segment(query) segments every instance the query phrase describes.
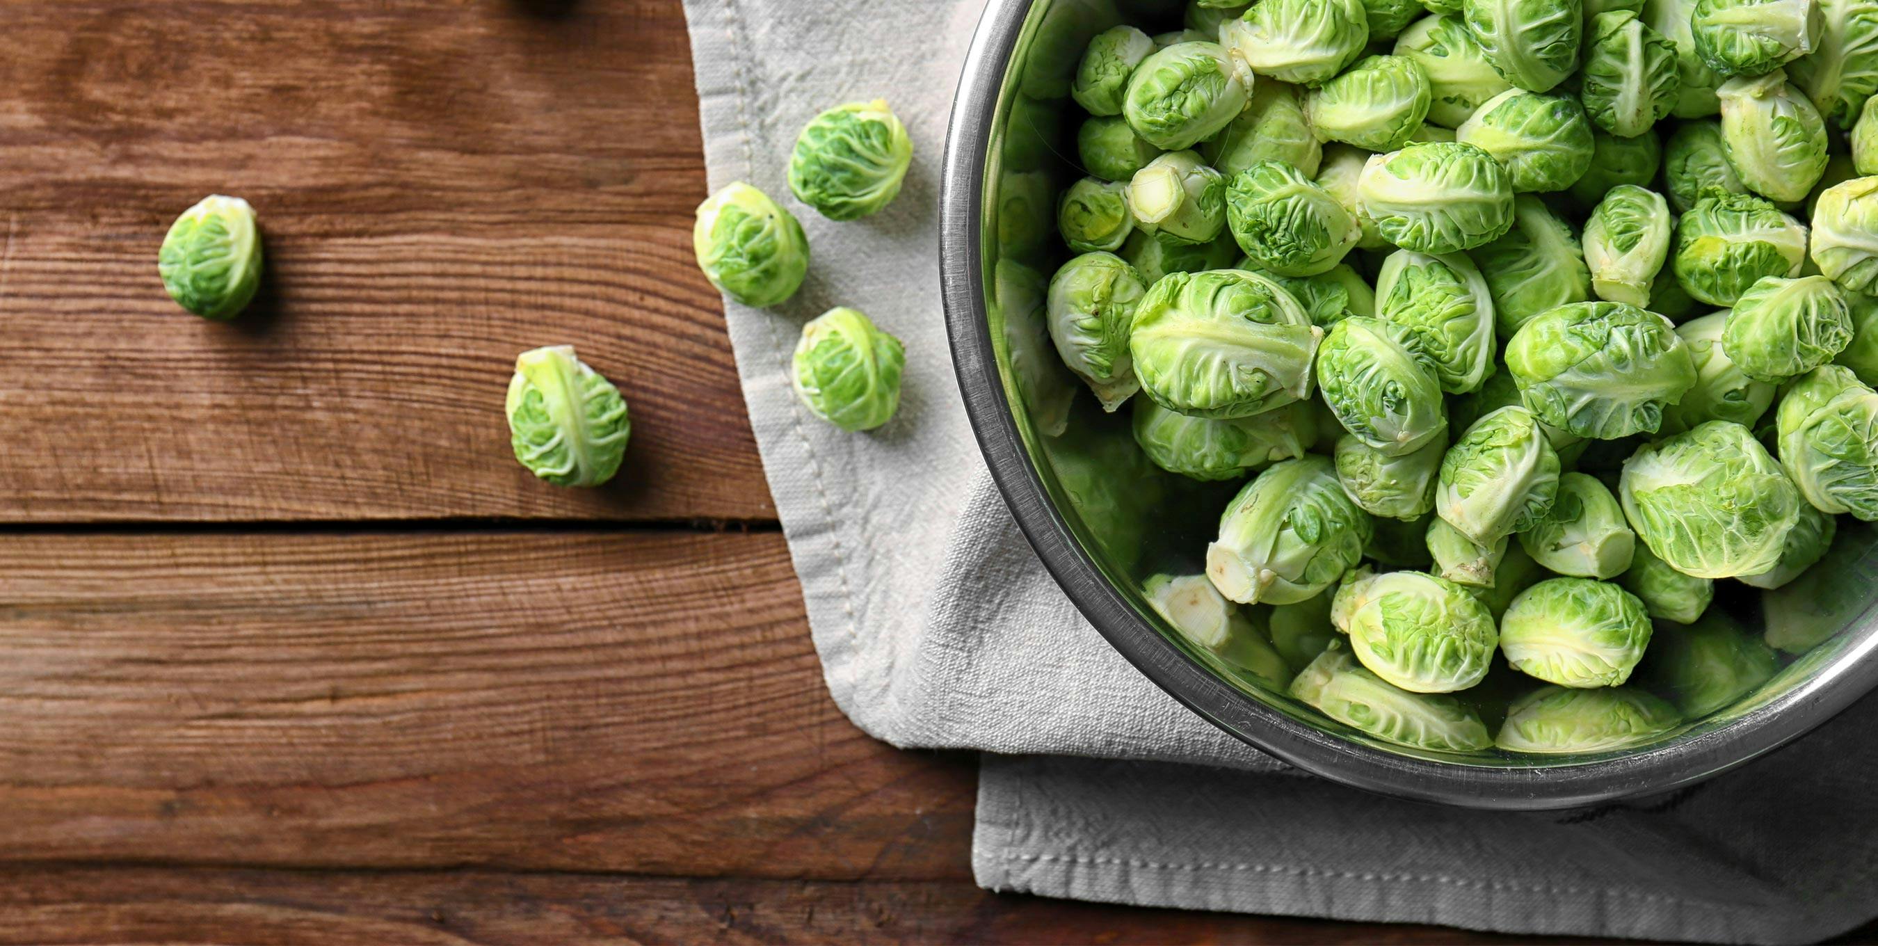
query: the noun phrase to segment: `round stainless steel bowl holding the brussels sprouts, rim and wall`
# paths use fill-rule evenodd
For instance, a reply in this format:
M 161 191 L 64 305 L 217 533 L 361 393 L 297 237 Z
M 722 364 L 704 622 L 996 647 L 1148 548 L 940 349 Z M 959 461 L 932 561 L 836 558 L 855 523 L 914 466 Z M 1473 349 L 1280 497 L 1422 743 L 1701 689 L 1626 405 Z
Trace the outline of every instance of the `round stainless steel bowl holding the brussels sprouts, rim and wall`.
M 1142 597 L 1155 572 L 1200 571 L 1234 486 L 1153 469 L 1127 411 L 1102 415 L 1057 362 L 1044 325 L 1057 246 L 1054 201 L 1078 171 L 1082 116 L 1069 77 L 1084 43 L 1123 21 L 1117 4 L 992 0 L 952 109 L 941 193 L 947 323 L 978 445 L 1018 526 L 1089 623 L 1161 689 L 1219 728 L 1303 770 L 1375 792 L 1493 809 L 1553 809 L 1688 785 L 1799 738 L 1878 683 L 1878 542 L 1848 529 L 1814 582 L 1805 619 L 1822 644 L 1737 704 L 1662 740 L 1585 756 L 1405 749 L 1251 685 L 1193 648 Z M 1138 9 L 1129 19 L 1136 21 Z M 1153 13 L 1149 13 L 1153 15 Z M 1716 601 L 1750 627 L 1760 599 Z M 1673 633 L 1673 631 L 1666 631 Z M 1489 726 L 1493 719 L 1487 719 Z

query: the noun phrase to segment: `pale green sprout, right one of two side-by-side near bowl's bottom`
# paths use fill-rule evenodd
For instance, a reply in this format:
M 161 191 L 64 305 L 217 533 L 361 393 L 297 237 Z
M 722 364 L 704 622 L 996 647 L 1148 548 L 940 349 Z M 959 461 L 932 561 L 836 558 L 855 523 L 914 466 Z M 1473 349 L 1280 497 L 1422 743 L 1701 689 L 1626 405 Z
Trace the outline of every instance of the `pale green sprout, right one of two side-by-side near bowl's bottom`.
M 1623 685 L 1649 638 L 1643 603 L 1589 578 L 1544 580 L 1521 591 L 1501 619 L 1501 651 L 1514 670 L 1574 689 Z

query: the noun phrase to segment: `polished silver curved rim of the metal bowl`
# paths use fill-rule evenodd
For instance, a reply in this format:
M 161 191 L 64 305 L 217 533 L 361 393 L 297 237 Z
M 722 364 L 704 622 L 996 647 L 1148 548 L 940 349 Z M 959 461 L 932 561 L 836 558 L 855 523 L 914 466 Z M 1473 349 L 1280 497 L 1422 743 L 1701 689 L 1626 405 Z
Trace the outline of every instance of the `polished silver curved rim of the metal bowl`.
M 1878 683 L 1878 634 L 1833 666 L 1713 732 L 1549 768 L 1465 766 L 1393 755 L 1300 723 L 1219 679 L 1149 627 L 1102 576 L 1050 501 L 1018 432 L 992 347 L 980 221 L 992 124 L 1035 0 L 993 0 L 973 36 L 947 124 L 939 184 L 939 282 L 960 394 L 997 490 L 1044 569 L 1134 668 L 1221 730 L 1354 788 L 1463 807 L 1538 811 L 1668 792 L 1786 745 Z

